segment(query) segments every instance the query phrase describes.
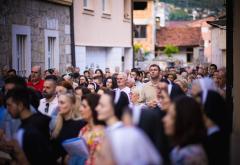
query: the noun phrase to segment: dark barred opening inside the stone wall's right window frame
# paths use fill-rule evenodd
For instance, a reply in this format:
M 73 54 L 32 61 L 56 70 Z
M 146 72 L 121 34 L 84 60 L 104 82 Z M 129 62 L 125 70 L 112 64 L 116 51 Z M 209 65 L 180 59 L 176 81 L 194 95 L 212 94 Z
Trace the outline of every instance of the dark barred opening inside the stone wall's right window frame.
M 56 40 L 56 37 L 48 37 L 48 63 L 47 63 L 47 66 L 48 66 L 48 69 L 49 68 L 54 68 L 54 45 L 55 45 L 55 40 Z

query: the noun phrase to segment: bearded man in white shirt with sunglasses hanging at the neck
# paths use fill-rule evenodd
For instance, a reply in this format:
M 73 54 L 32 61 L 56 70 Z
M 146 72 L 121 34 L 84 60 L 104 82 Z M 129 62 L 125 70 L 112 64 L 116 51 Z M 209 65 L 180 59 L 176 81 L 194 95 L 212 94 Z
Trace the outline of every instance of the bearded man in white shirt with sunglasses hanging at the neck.
M 43 99 L 40 100 L 38 111 L 52 117 L 57 114 L 58 98 L 56 95 L 57 77 L 49 75 L 43 84 Z

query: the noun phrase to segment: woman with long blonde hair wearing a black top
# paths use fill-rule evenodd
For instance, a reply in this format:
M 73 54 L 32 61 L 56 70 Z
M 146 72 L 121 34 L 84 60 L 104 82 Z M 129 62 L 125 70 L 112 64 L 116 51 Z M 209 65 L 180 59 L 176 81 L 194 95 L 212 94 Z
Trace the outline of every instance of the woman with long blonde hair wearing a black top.
M 58 106 L 59 112 L 52 131 L 52 144 L 56 159 L 64 158 L 67 155 L 67 152 L 62 147 L 62 142 L 77 137 L 79 130 L 86 124 L 79 119 L 79 112 L 76 109 L 76 97 L 73 93 L 60 94 Z

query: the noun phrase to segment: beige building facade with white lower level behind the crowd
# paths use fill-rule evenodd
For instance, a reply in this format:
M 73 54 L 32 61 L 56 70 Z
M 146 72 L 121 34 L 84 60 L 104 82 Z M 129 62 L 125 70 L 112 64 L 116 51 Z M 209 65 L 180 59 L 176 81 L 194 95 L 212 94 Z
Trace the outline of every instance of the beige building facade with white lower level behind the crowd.
M 76 66 L 131 69 L 131 0 L 74 0 L 73 5 Z

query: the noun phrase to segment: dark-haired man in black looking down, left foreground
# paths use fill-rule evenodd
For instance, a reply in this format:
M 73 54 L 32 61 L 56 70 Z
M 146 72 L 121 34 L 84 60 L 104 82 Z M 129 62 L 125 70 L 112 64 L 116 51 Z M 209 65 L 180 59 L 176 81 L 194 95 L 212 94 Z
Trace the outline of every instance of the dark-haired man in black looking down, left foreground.
M 32 113 L 30 110 L 31 93 L 28 88 L 16 87 L 6 95 L 6 106 L 9 114 L 14 119 L 20 119 L 21 124 L 16 133 L 16 140 L 24 151 L 29 164 L 55 164 L 53 151 L 49 141 L 49 122 L 48 116 L 40 113 Z M 21 149 L 16 150 L 17 144 L 4 141 L 8 150 L 7 153 L 19 158 Z M 13 157 L 14 157 L 13 156 Z M 24 155 L 22 155 L 24 156 Z M 17 162 L 18 164 L 19 162 Z M 26 164 L 26 162 L 24 162 Z

